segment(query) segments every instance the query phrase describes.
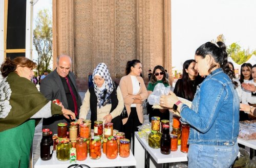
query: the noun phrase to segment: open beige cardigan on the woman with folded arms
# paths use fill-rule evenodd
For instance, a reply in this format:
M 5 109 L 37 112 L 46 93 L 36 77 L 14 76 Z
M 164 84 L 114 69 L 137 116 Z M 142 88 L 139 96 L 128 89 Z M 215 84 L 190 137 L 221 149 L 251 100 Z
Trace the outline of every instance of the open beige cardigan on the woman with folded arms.
M 147 99 L 147 90 L 144 83 L 144 80 L 142 77 L 137 76 L 138 81 L 140 82 L 140 90 L 138 95 L 141 96 L 142 101 Z M 133 83 L 131 79 L 131 75 L 123 76 L 120 80 L 119 87 L 121 89 L 122 95 L 123 95 L 123 101 L 124 105 L 126 107 L 128 116 L 131 113 L 131 104 L 133 103 L 133 98 L 131 98 L 130 95 L 133 95 Z M 140 123 L 143 123 L 143 107 L 142 104 L 136 104 L 136 111 L 139 118 Z M 127 122 L 128 118 L 123 119 L 122 122 L 125 124 Z

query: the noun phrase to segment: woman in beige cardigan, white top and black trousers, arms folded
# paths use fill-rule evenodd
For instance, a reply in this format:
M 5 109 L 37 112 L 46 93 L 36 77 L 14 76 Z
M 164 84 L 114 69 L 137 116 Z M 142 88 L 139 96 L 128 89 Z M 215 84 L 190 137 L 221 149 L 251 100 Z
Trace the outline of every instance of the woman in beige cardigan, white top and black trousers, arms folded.
M 119 83 L 128 113 L 128 118 L 122 120 L 123 129 L 125 137 L 130 141 L 132 137 L 134 140 L 134 132 L 138 131 L 137 127 L 143 123 L 142 102 L 147 99 L 146 86 L 140 77 L 141 72 L 142 65 L 139 60 L 129 61 L 126 64 L 126 76 L 123 76 Z

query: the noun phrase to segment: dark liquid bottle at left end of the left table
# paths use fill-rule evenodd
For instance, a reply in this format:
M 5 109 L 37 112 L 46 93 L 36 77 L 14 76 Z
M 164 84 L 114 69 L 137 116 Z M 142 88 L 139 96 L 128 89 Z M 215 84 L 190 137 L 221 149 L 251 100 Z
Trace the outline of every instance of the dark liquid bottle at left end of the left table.
M 52 141 L 50 138 L 50 129 L 42 130 L 42 140 L 40 143 L 40 158 L 50 160 L 52 158 Z

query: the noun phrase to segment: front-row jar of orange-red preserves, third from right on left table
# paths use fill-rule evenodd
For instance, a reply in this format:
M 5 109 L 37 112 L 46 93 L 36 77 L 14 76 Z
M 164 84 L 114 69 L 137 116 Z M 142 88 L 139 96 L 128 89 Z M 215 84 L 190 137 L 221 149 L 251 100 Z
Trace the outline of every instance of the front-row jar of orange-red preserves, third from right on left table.
M 90 141 L 89 155 L 91 159 L 99 159 L 101 157 L 101 141 L 100 137 L 94 136 Z

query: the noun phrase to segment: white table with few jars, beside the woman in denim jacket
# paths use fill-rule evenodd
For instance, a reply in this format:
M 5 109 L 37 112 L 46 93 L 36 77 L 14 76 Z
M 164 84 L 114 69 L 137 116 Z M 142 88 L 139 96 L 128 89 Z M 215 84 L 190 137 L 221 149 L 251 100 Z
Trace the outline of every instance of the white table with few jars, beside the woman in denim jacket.
M 187 154 L 180 151 L 180 146 L 178 146 L 177 151 L 171 151 L 170 154 L 164 155 L 161 153 L 160 149 L 153 149 L 148 146 L 145 139 L 140 138 L 138 132 L 135 132 L 135 151 L 134 157 L 137 161 L 136 167 L 154 167 L 154 161 L 157 164 L 160 163 L 170 163 L 170 162 L 181 162 L 187 161 Z M 150 160 L 147 153 L 154 159 Z M 146 161 L 146 162 L 144 162 Z M 152 165 L 153 163 L 153 165 Z M 148 165 L 149 164 L 149 165 Z M 159 166 L 159 165 L 156 165 Z

